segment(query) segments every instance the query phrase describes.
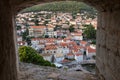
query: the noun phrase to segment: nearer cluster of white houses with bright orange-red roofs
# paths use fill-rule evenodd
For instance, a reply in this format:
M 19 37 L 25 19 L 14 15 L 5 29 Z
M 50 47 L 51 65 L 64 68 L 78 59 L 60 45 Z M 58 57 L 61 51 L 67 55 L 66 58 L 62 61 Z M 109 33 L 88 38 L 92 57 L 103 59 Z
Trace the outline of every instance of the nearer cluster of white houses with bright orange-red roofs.
M 75 41 L 69 38 L 33 38 L 31 40 L 34 49 L 40 52 L 45 60 L 50 62 L 70 62 L 76 60 L 81 62 L 93 59 L 96 49 L 86 41 Z

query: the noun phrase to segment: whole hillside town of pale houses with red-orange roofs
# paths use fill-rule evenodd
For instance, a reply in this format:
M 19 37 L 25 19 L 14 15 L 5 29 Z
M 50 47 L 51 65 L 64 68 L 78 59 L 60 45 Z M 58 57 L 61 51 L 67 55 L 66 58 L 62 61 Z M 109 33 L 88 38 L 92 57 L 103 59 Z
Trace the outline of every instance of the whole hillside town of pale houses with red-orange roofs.
M 76 60 L 81 62 L 93 59 L 96 54 L 95 45 L 83 40 L 83 24 L 92 24 L 97 29 L 97 19 L 86 18 L 77 13 L 29 12 L 20 13 L 16 23 L 21 26 L 17 30 L 18 46 L 28 46 L 21 34 L 27 29 L 31 37 L 31 47 L 37 50 L 45 60 L 66 63 Z M 72 26 L 74 31 L 70 31 Z

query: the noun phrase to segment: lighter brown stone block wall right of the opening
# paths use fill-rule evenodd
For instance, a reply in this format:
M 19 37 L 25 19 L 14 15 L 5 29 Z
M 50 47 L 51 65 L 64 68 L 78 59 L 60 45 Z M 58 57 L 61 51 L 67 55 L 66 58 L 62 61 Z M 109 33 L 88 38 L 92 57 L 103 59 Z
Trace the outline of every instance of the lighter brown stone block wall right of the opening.
M 120 11 L 98 15 L 97 74 L 100 80 L 120 80 Z

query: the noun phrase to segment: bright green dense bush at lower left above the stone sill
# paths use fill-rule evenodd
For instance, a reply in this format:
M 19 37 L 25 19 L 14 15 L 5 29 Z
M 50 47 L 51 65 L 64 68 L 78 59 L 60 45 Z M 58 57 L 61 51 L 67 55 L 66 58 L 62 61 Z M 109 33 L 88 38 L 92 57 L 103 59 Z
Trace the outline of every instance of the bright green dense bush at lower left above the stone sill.
M 50 63 L 43 59 L 36 50 L 29 46 L 22 46 L 19 48 L 19 57 L 20 61 L 26 63 L 33 63 L 41 66 L 52 66 L 55 67 L 54 64 Z

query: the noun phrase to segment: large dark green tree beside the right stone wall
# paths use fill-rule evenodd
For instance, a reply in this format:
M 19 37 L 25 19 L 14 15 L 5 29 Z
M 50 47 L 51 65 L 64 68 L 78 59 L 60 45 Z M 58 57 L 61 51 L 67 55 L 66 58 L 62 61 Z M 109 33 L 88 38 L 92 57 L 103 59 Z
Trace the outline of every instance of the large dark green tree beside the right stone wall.
M 84 25 L 85 29 L 83 35 L 87 39 L 96 39 L 96 30 L 93 25 Z

